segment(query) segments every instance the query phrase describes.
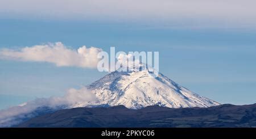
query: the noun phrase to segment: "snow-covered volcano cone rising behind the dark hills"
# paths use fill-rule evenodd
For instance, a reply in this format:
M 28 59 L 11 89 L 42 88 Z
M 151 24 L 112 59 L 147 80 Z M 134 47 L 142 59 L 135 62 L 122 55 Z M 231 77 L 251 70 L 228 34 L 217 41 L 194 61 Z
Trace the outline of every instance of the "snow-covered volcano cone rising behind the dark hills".
M 96 94 L 99 104 L 123 105 L 127 108 L 166 106 L 170 108 L 217 106 L 213 100 L 185 89 L 159 73 L 150 77 L 150 71 L 114 71 L 88 86 Z M 74 107 L 85 106 L 79 104 Z

